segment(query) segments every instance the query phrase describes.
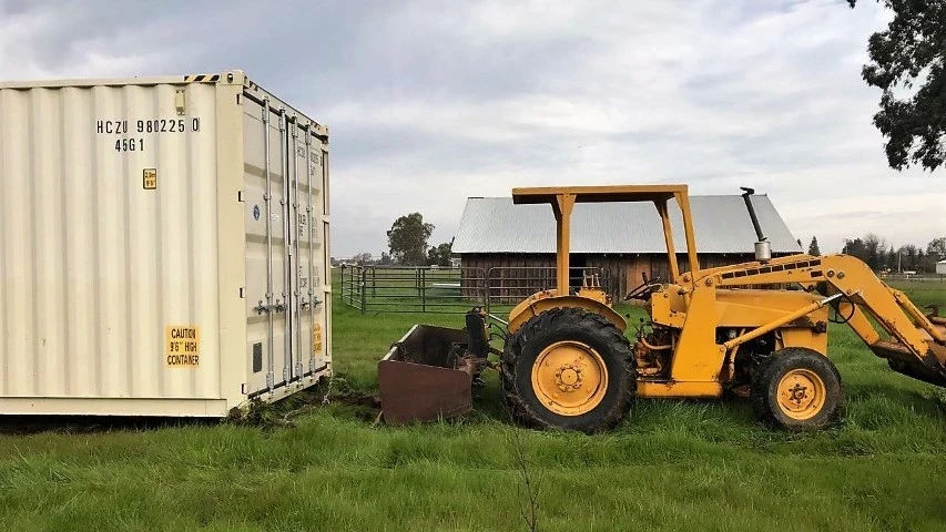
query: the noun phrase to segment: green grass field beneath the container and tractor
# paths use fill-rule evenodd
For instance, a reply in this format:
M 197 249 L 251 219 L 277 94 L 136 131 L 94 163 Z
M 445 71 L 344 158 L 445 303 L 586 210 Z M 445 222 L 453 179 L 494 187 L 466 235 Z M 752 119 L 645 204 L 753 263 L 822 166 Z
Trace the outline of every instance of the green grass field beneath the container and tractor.
M 946 306 L 946 285 L 906 286 Z M 372 390 L 375 364 L 418 321 L 335 301 L 334 387 Z M 613 433 L 510 426 L 496 379 L 459 422 L 374 424 L 312 408 L 287 427 L 212 423 L 0 436 L 0 530 L 871 531 L 946 529 L 946 395 L 889 371 L 843 327 L 837 428 L 790 436 L 742 400 L 640 400 Z

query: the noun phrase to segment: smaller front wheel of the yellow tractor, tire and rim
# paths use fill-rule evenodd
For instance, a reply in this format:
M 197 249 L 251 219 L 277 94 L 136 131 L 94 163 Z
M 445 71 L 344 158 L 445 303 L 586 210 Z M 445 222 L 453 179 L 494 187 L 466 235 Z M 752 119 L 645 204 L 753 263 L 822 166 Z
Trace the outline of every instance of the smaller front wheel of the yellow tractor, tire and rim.
M 760 421 L 790 432 L 823 429 L 844 408 L 837 368 L 824 355 L 802 347 L 773 352 L 753 377 L 750 398 Z

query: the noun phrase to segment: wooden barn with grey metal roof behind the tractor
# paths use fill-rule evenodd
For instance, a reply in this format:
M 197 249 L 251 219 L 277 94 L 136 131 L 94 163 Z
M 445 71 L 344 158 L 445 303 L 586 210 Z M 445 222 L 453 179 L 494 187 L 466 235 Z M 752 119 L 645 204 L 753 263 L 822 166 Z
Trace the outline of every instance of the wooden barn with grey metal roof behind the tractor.
M 802 250 L 767 195 L 752 196 L 773 256 Z M 754 260 L 757 239 L 739 195 L 690 196 L 700 267 Z M 670 202 L 681 272 L 689 269 L 683 222 Z M 511 197 L 469 197 L 454 239 L 464 286 L 488 285 L 491 297 L 510 300 L 555 286 L 556 221 L 550 205 L 513 205 Z M 597 273 L 602 286 L 623 296 L 649 278 L 668 276 L 667 246 L 651 203 L 579 203 L 572 213 L 571 285 Z M 485 279 L 478 282 L 477 279 Z

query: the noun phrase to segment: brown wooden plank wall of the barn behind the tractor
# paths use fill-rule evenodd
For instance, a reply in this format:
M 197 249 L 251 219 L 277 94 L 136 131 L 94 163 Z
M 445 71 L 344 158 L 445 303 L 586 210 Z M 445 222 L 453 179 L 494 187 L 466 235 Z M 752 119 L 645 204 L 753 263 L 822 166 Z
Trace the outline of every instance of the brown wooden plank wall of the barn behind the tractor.
M 669 277 L 667 255 L 586 255 L 586 266 L 608 273 L 608 291 L 620 300 L 632 288 L 642 283 L 641 274 L 648 278 Z M 743 255 L 703 254 L 699 256 L 701 268 L 715 268 L 754 260 L 751 253 Z M 464 254 L 462 286 L 465 294 L 474 296 L 481 290 L 489 277 L 490 297 L 498 301 L 515 303 L 537 289 L 555 287 L 556 257 L 552 254 Z M 689 272 L 686 255 L 678 254 L 680 272 Z M 492 269 L 496 268 L 496 269 Z M 490 270 L 491 274 L 490 274 Z

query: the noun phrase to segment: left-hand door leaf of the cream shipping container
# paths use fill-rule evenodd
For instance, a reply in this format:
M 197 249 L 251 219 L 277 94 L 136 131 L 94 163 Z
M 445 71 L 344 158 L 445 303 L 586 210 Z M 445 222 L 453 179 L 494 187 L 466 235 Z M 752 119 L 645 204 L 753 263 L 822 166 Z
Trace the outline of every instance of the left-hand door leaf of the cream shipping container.
M 284 113 L 268 100 L 244 104 L 246 208 L 246 360 L 251 397 L 285 386 L 291 346 L 287 314 L 289 187 Z M 224 258 L 222 258 L 224 259 Z

